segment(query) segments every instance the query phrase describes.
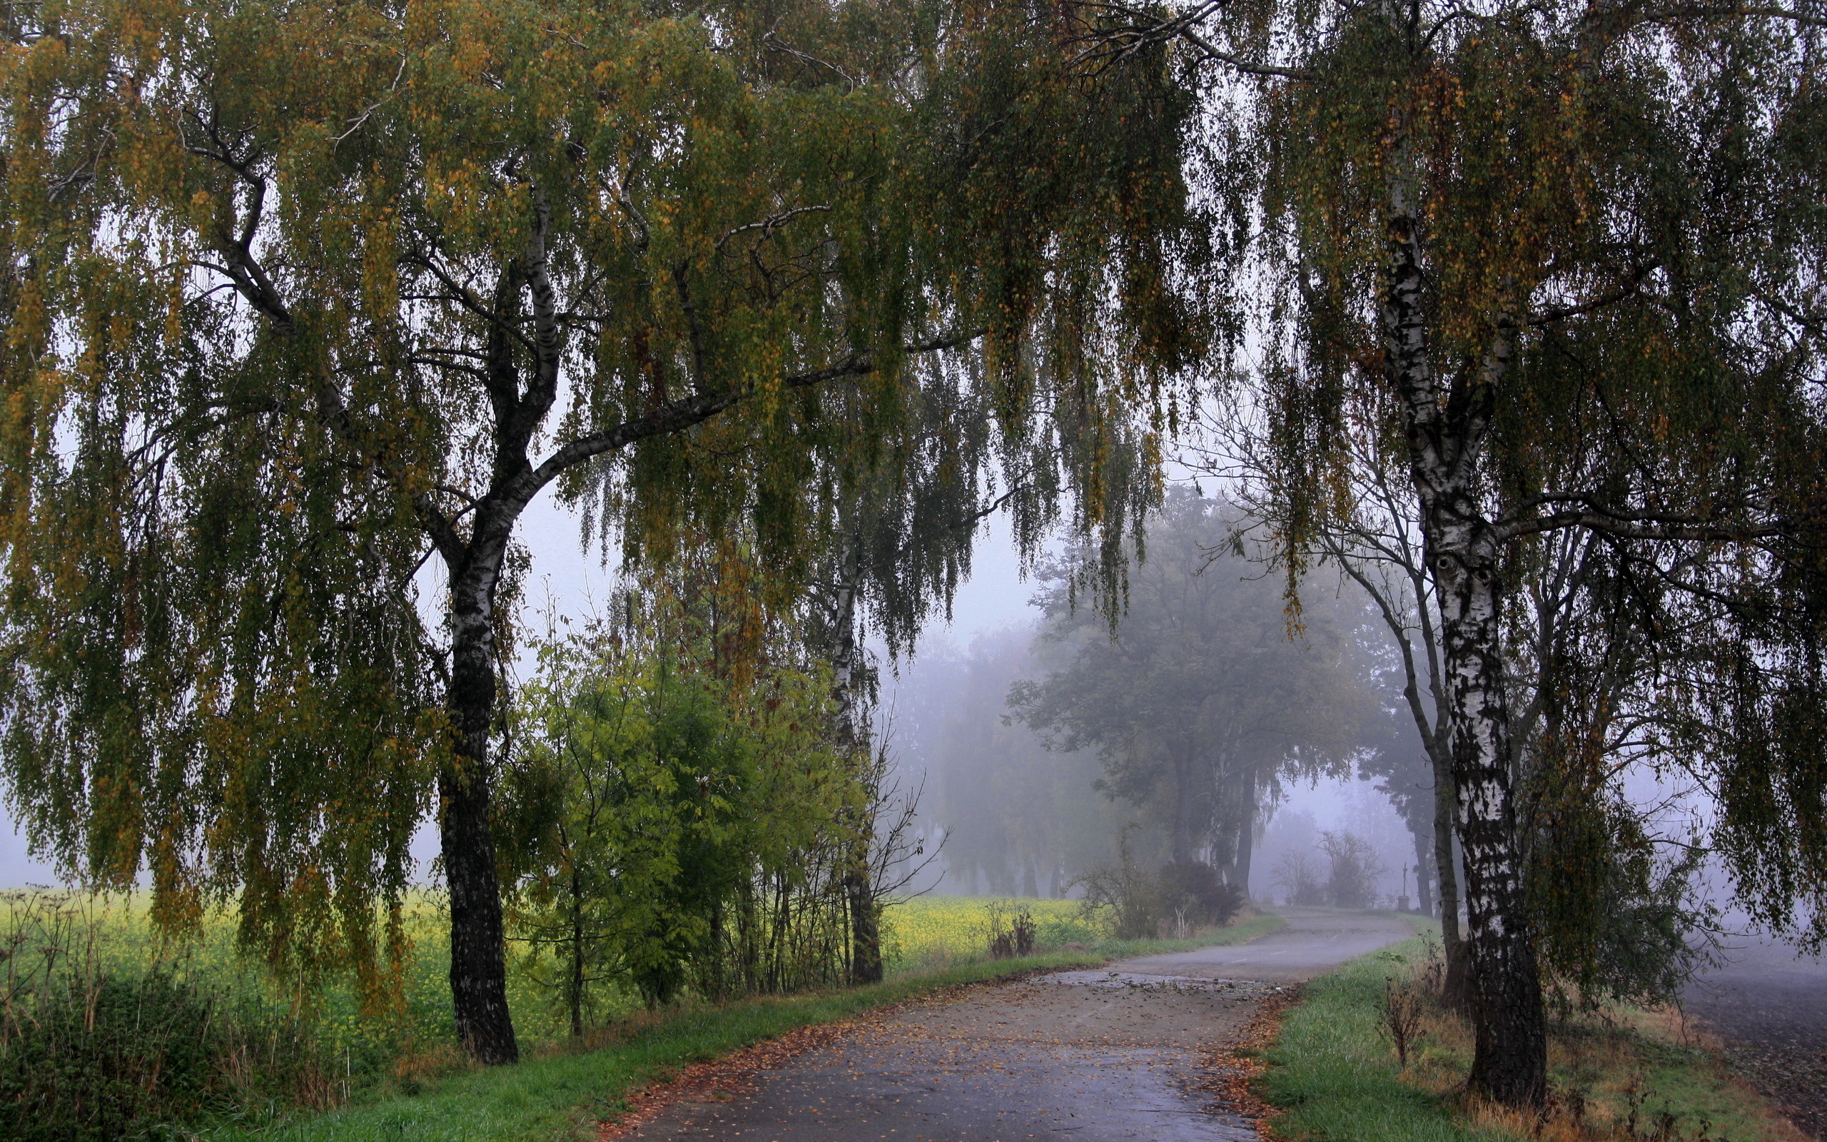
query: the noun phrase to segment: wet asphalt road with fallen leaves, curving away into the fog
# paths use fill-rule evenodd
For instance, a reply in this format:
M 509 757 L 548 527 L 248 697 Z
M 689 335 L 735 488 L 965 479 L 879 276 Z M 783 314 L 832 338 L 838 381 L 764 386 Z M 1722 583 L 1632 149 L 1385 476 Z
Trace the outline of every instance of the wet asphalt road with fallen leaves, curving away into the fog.
M 625 1137 L 758 1142 L 1244 1142 L 1208 1113 L 1200 1054 L 1279 987 L 1407 939 L 1396 917 L 1284 910 L 1248 945 L 970 989 L 760 1071 L 727 1102 L 680 1100 Z

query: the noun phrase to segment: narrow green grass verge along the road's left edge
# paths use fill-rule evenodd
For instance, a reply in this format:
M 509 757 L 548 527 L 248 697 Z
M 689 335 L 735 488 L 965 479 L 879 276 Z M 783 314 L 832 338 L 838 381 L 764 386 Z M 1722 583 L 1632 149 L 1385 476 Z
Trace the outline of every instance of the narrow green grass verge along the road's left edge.
M 625 1098 L 678 1069 L 760 1040 L 862 1014 L 924 992 L 1036 968 L 1082 968 L 1209 945 L 1235 945 L 1279 930 L 1257 915 L 1193 939 L 1100 941 L 1083 952 L 956 963 L 839 992 L 689 1005 L 632 1020 L 594 1051 L 548 1051 L 513 1067 L 473 1069 L 429 1080 L 417 1094 L 389 1093 L 314 1116 L 223 1122 L 194 1137 L 210 1142 L 554 1142 L 594 1133 Z

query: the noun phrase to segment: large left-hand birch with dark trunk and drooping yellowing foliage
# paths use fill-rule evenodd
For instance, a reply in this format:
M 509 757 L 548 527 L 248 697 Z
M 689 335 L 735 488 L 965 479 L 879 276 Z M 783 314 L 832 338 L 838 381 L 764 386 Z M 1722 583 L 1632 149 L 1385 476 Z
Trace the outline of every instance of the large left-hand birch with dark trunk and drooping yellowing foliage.
M 535 495 L 628 565 L 755 543 L 786 607 L 822 391 L 882 429 L 910 360 L 981 349 L 996 431 L 1071 444 L 1045 486 L 1094 535 L 1104 442 L 1209 342 L 1195 100 L 1158 51 L 1083 82 L 1012 5 L 0 29 L 7 795 L 69 873 L 150 866 L 166 928 L 238 899 L 248 948 L 369 996 L 435 808 L 482 1062 L 517 1056 L 491 740 Z

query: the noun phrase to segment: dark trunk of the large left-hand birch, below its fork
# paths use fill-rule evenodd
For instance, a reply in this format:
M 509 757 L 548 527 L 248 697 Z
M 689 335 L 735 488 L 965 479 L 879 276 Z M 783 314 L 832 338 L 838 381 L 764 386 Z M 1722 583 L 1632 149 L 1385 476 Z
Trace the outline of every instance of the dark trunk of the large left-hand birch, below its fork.
M 519 1060 L 508 1014 L 501 879 L 490 833 L 488 735 L 495 714 L 493 568 L 466 566 L 451 585 L 449 714 L 455 749 L 438 773 L 438 837 L 451 897 L 451 1007 L 457 1036 L 481 1063 Z

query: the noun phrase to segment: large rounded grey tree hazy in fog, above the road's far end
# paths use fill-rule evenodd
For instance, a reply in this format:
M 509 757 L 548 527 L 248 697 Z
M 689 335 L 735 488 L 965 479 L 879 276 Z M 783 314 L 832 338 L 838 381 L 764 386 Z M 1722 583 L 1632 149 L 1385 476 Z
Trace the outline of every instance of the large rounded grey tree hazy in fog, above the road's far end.
M 1071 561 L 1047 572 L 1056 663 L 1009 703 L 1052 745 L 1096 749 L 1105 791 L 1158 813 L 1169 861 L 1248 890 L 1261 804 L 1286 773 L 1348 764 L 1361 691 L 1328 616 L 1290 638 L 1279 583 L 1230 550 L 1237 524 L 1175 490 L 1114 625 L 1076 605 Z

